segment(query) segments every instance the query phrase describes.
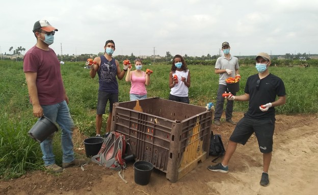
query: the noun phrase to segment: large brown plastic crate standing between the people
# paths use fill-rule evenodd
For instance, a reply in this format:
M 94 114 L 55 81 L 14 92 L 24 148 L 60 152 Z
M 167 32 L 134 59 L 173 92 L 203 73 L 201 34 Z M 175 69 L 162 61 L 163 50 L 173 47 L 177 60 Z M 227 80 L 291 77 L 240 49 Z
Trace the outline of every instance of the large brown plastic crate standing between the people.
M 205 107 L 162 98 L 115 103 L 112 131 L 125 135 L 136 160 L 146 160 L 171 182 L 192 171 L 208 157 L 213 113 Z

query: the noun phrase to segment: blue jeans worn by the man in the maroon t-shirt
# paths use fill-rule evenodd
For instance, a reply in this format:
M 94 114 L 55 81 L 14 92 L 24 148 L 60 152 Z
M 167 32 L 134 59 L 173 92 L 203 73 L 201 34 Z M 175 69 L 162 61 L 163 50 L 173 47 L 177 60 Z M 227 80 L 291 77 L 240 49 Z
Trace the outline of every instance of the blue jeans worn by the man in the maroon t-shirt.
M 66 101 L 62 101 L 53 105 L 41 105 L 43 108 L 44 116 L 50 120 L 58 123 L 62 129 L 62 151 L 63 162 L 71 162 L 74 160 L 72 135 L 74 129 L 74 122 L 71 118 L 69 108 Z M 44 164 L 51 165 L 55 163 L 55 155 L 53 154 L 53 137 L 54 133 L 49 135 L 41 144 L 41 150 L 43 153 L 42 159 Z

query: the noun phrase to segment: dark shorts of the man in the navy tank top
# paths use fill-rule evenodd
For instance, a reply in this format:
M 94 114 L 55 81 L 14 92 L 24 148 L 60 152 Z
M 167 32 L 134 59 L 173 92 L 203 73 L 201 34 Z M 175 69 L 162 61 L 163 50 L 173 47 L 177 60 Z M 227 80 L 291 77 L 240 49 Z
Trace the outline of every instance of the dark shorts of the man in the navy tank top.
M 97 115 L 105 114 L 105 108 L 108 100 L 110 100 L 110 109 L 109 112 L 113 113 L 113 104 L 118 102 L 118 94 L 111 94 L 103 91 L 98 91 L 98 100 L 97 100 Z

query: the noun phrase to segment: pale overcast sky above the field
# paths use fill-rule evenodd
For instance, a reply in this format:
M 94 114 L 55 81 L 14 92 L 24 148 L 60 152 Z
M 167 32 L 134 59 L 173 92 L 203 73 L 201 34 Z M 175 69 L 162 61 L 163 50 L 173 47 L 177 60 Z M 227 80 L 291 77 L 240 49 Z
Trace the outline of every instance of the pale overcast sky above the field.
M 59 31 L 57 54 L 219 54 L 228 41 L 233 55 L 318 53 L 317 0 L 109 0 L 2 1 L 0 47 L 26 50 L 36 43 L 34 23 L 46 19 Z M 221 51 L 222 52 L 222 51 Z

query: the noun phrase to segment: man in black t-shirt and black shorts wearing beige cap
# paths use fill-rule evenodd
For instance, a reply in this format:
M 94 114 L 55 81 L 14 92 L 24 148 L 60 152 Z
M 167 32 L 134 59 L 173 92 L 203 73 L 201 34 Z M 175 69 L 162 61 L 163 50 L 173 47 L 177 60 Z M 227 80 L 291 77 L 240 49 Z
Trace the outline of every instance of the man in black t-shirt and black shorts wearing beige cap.
M 259 150 L 263 153 L 263 173 L 260 185 L 268 186 L 268 170 L 272 160 L 273 134 L 275 129 L 275 106 L 286 102 L 284 82 L 271 74 L 268 67 L 271 65 L 270 55 L 261 52 L 256 56 L 258 74 L 249 76 L 245 86 L 245 94 L 227 97 L 228 100 L 249 101 L 248 111 L 237 123 L 230 136 L 226 153 L 222 163 L 208 166 L 208 170 L 228 173 L 228 162 L 235 152 L 237 143 L 245 145 L 255 132 Z M 276 96 L 278 97 L 276 100 Z

